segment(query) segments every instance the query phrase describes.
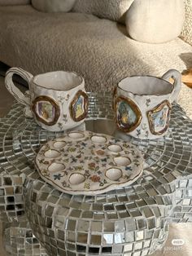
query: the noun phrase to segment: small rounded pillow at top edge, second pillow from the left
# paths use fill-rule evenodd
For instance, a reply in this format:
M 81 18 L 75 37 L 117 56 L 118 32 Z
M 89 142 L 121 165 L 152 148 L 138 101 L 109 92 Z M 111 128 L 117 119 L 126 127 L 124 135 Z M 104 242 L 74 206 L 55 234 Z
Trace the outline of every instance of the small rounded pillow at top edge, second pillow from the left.
M 32 5 L 38 11 L 59 12 L 71 11 L 76 0 L 32 0 Z

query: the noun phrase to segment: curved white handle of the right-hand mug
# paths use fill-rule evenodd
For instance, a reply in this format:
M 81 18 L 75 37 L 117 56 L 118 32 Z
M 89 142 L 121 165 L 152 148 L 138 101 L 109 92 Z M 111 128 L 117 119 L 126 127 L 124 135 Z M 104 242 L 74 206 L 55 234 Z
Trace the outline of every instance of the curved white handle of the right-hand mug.
M 172 94 L 170 97 L 170 101 L 172 103 L 173 101 L 177 102 L 177 98 L 178 98 L 178 95 L 181 90 L 181 73 L 179 71 L 177 71 L 176 69 L 170 69 L 170 70 L 168 70 L 167 73 L 164 74 L 162 79 L 170 82 L 170 78 L 172 78 L 174 80 L 173 85 L 172 85 L 173 90 L 172 90 Z

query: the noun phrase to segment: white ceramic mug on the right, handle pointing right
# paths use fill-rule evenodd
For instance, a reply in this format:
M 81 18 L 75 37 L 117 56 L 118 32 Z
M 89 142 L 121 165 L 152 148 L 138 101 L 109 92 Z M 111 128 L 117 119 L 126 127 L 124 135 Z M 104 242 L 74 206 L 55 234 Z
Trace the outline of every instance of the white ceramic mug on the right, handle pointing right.
M 169 82 L 170 78 L 174 83 Z M 114 90 L 118 130 L 137 139 L 158 139 L 166 134 L 172 102 L 181 90 L 181 73 L 169 70 L 162 78 L 126 77 Z

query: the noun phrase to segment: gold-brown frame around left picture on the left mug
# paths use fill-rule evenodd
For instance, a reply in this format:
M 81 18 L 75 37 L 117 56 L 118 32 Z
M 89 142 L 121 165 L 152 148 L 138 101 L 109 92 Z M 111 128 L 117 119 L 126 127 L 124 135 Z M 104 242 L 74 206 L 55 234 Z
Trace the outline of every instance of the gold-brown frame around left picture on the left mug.
M 37 106 L 37 103 L 39 101 L 48 101 L 52 106 L 55 107 L 55 118 L 54 118 L 53 121 L 46 121 L 45 119 L 41 118 L 37 114 L 36 106 Z M 33 113 L 35 114 L 37 120 L 41 121 L 46 126 L 54 126 L 57 123 L 57 121 L 59 119 L 59 116 L 60 116 L 59 104 L 55 101 L 55 99 L 52 99 L 52 98 L 50 98 L 49 96 L 46 96 L 46 95 L 41 95 L 41 96 L 38 96 L 36 99 L 33 99 L 32 110 L 33 110 Z

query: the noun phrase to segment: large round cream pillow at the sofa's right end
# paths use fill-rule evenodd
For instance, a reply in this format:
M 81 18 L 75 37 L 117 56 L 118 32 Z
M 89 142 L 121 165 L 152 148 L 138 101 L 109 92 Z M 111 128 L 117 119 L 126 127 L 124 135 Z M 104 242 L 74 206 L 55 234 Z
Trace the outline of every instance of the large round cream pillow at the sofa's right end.
M 131 38 L 139 42 L 160 43 L 177 38 L 184 21 L 183 0 L 134 0 L 125 22 Z

